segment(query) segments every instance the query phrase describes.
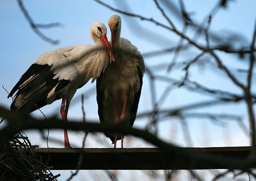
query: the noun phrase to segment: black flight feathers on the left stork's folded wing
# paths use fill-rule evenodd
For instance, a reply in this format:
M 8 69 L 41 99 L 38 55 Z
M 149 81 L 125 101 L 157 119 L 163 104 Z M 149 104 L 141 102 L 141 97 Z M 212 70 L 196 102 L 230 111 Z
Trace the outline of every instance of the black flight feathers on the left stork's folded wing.
M 8 96 L 12 96 L 18 90 L 11 104 L 11 109 L 17 109 L 14 106 L 14 103 L 17 101 L 16 98 L 20 94 L 23 94 L 24 97 L 28 96 L 28 101 L 22 105 L 21 109 L 26 109 L 28 112 L 33 112 L 38 108 L 47 105 L 47 95 L 57 84 L 58 85 L 56 86 L 55 92 L 60 91 L 67 86 L 68 83 L 70 83 L 70 80 L 59 80 L 58 78 L 53 79 L 56 74 L 53 74 L 51 67 L 52 66 L 49 66 L 48 64 L 32 64 L 29 67 L 29 69 L 21 76 L 19 82 L 13 87 L 10 95 Z M 19 86 L 31 76 L 35 76 L 36 78 L 29 82 L 28 85 L 19 89 Z M 57 95 L 54 101 L 60 98 L 61 97 Z

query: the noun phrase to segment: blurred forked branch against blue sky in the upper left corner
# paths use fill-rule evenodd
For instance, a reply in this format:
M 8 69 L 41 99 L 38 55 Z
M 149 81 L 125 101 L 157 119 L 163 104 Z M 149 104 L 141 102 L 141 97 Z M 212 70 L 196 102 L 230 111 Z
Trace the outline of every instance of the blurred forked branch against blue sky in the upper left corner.
M 33 29 L 33 31 L 44 41 L 47 41 L 48 43 L 51 43 L 52 45 L 56 45 L 59 44 L 59 40 L 52 40 L 51 38 L 46 37 L 42 32 L 40 32 L 38 30 L 38 28 L 51 28 L 51 27 L 57 27 L 60 26 L 62 24 L 60 23 L 50 23 L 47 25 L 43 25 L 43 24 L 35 24 L 32 20 L 32 18 L 28 15 L 28 11 L 25 9 L 23 3 L 21 0 L 17 0 L 20 6 L 20 10 L 23 12 L 25 18 L 28 20 L 31 28 Z

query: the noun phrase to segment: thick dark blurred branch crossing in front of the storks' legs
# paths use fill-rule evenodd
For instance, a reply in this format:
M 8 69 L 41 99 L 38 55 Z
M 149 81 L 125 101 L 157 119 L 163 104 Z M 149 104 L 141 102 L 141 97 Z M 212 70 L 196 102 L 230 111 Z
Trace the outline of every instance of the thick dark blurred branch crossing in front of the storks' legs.
M 177 156 L 183 156 L 184 158 L 191 159 L 193 162 L 206 162 L 214 165 L 222 165 L 230 169 L 232 169 L 232 165 L 238 165 L 238 169 L 248 171 L 249 168 L 252 165 L 255 165 L 254 163 L 256 163 L 256 158 L 252 158 L 250 160 L 244 160 L 241 158 L 233 159 L 229 156 L 212 156 L 209 154 L 198 154 L 195 152 L 182 150 L 173 144 L 167 144 L 146 130 L 135 129 L 129 126 L 100 125 L 95 123 L 81 123 L 71 121 L 65 122 L 54 117 L 48 120 L 36 120 L 29 115 L 18 115 L 15 114 L 15 112 L 11 113 L 3 108 L 0 108 L 0 116 L 4 116 L 9 121 L 8 125 L 0 131 L 0 137 L 2 138 L 0 140 L 0 146 L 6 143 L 14 134 L 18 133 L 20 130 L 67 128 L 70 130 L 87 130 L 91 132 L 97 131 L 131 134 L 143 138 L 144 140 L 154 144 L 164 151 L 172 152 Z

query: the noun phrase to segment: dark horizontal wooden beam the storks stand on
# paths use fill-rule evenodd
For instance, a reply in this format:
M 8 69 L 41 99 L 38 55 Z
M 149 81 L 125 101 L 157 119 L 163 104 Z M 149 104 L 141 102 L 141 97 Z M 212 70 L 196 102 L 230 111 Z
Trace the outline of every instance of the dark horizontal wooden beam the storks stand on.
M 251 147 L 181 148 L 209 155 L 246 159 Z M 197 170 L 228 169 L 222 165 L 195 162 L 167 153 L 159 148 L 49 148 L 53 170 L 76 170 L 78 157 L 83 153 L 80 170 Z M 37 148 L 36 154 L 45 162 L 48 148 Z M 233 165 L 232 168 L 236 168 Z

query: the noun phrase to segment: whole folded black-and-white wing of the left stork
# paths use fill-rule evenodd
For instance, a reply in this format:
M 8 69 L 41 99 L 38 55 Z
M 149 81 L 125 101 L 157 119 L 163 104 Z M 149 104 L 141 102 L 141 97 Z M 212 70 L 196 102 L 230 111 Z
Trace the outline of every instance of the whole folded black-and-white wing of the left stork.
M 16 91 L 11 109 L 35 111 L 61 98 L 68 84 L 77 76 L 76 68 L 57 51 L 46 52 L 32 64 L 13 87 Z

